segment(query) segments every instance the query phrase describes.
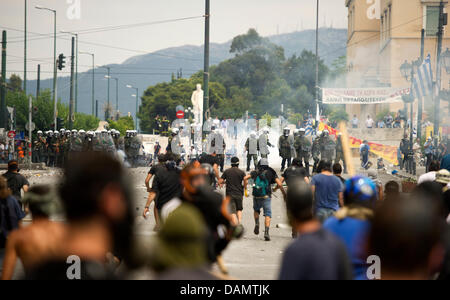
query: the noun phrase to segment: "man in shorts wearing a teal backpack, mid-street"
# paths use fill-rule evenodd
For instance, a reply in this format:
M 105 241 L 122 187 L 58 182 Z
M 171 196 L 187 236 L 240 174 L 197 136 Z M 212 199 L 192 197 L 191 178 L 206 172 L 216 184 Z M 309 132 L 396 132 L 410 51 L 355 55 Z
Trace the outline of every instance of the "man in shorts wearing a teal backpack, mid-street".
M 270 220 L 272 218 L 272 207 L 271 207 L 271 197 L 272 197 L 272 184 L 277 184 L 278 188 L 281 190 L 284 199 L 286 199 L 286 191 L 283 188 L 281 180 L 278 178 L 277 173 L 274 169 L 269 167 L 268 160 L 263 158 L 258 164 L 257 171 L 253 171 L 251 174 L 253 179 L 253 210 L 255 217 L 255 229 L 254 233 L 259 235 L 259 215 L 261 209 L 264 211 L 264 239 L 270 241 L 269 228 Z

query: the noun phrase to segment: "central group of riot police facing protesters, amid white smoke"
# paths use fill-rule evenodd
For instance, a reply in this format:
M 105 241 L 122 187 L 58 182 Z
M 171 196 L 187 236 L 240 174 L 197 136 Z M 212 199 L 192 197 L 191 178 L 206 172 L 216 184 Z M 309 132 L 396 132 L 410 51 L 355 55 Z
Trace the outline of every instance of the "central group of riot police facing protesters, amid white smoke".
M 192 160 L 198 158 L 202 153 L 215 153 L 219 157 L 221 161 L 220 167 L 223 169 L 223 161 L 226 153 L 224 131 L 216 128 L 212 122 L 208 121 L 203 125 L 203 130 L 207 133 L 205 138 L 202 137 L 203 132 L 200 125 L 191 125 L 184 120 L 174 121 L 167 150 L 184 157 L 186 151 L 182 146 L 181 139 L 189 138 L 192 151 L 188 153 L 187 159 Z M 250 119 L 246 122 L 236 120 L 233 122 L 235 123 L 226 129 L 226 133 L 228 133 L 227 135 L 229 137 L 231 136 L 231 139 L 235 135 L 244 137 L 242 142 L 245 141 L 244 157 L 246 156 L 247 158 L 247 171 L 250 170 L 251 166 L 256 169 L 257 162 L 261 158 L 269 158 L 269 154 L 271 153 L 270 148 L 278 147 L 279 156 L 282 160 L 281 171 L 291 165 L 292 159 L 300 158 L 308 175 L 317 172 L 317 165 L 320 160 L 342 162 L 344 172 L 347 172 L 340 134 L 335 139 L 325 130 L 323 132 L 317 131 L 309 137 L 306 136 L 305 128 L 295 129 L 291 133 L 291 128 L 282 117 L 272 120 L 271 124 L 267 124 L 267 121 L 264 119 L 258 121 Z M 234 130 L 230 130 L 230 127 L 232 128 L 233 125 L 235 126 Z M 284 126 L 281 127 L 281 125 Z M 237 130 L 236 127 L 238 127 Z M 258 130 L 258 127 L 260 130 Z M 283 130 L 280 128 L 283 128 Z M 236 131 L 238 131 L 237 134 Z M 275 145 L 270 142 L 270 132 L 282 132 L 281 136 L 279 136 L 278 143 Z M 313 161 L 312 170 L 310 170 L 311 161 Z

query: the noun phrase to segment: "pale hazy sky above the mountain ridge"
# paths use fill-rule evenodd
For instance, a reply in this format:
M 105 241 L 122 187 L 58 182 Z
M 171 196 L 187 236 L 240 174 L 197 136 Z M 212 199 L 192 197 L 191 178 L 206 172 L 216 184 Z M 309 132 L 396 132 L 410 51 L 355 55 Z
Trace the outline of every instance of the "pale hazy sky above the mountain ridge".
M 23 77 L 24 1 L 0 0 L 0 30 L 8 32 L 8 77 Z M 80 19 L 71 19 L 68 10 L 80 3 Z M 344 0 L 320 0 L 320 26 L 347 27 Z M 70 53 L 70 36 L 60 30 L 78 32 L 104 27 L 141 24 L 200 17 L 204 0 L 28 0 L 28 73 L 36 76 L 41 64 L 42 77 L 52 77 L 53 14 L 38 10 L 36 5 L 57 10 L 57 53 Z M 315 28 L 315 0 L 211 0 L 211 42 L 226 42 L 249 28 L 263 36 Z M 33 40 L 34 39 L 34 40 Z M 122 63 L 131 56 L 185 44 L 201 45 L 204 20 L 196 18 L 177 22 L 136 26 L 120 30 L 80 34 L 80 51 L 93 52 L 96 64 Z M 112 49 L 99 45 L 127 48 Z M 79 71 L 90 69 L 91 58 L 80 56 Z

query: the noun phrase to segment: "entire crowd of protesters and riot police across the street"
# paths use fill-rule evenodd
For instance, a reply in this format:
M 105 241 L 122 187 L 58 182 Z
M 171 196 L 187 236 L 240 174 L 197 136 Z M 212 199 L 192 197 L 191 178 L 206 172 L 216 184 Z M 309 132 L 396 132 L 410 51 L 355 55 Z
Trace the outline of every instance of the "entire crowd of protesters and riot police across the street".
M 246 230 L 244 219 L 252 219 L 251 234 L 271 241 L 276 193 L 284 199 L 293 238 L 283 252 L 279 279 L 449 278 L 450 172 L 438 161 L 430 164 L 433 173 L 404 194 L 395 181 L 383 186 L 374 170 L 344 178 L 341 135 L 334 138 L 325 130 L 311 141 L 305 128 L 292 135 L 284 128 L 277 172 L 270 166 L 275 145 L 268 128 L 259 136 L 250 132 L 246 164 L 233 156 L 229 168 L 221 131 L 211 129 L 205 151 L 196 155 L 183 157 L 179 130 L 171 131 L 165 153 L 155 146 L 157 159 L 143 183 L 148 198 L 142 217 L 153 215 L 156 224 L 146 251 L 134 227 L 135 185 L 126 164 L 110 155 L 130 147 L 135 132 L 124 138 L 115 131 L 39 132 L 33 146 L 44 155 L 38 161 L 60 165 L 64 176 L 54 186 L 30 186 L 18 161 L 8 163 L 0 178 L 1 278 L 13 278 L 20 260 L 25 279 L 129 279 L 142 268 L 157 279 L 227 279 L 222 253 L 239 243 L 234 240 Z M 49 148 L 58 149 L 52 158 Z M 368 169 L 368 151 L 365 141 L 361 170 Z M 252 201 L 248 214 L 247 198 Z M 32 223 L 23 226 L 27 214 Z M 52 219 L 57 214 L 64 222 Z M 371 271 L 373 257 L 381 261 L 379 273 Z M 69 258 L 81 262 L 73 278 Z

